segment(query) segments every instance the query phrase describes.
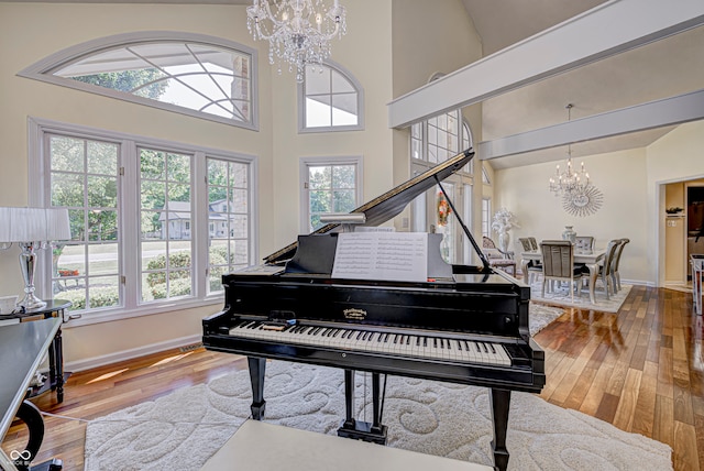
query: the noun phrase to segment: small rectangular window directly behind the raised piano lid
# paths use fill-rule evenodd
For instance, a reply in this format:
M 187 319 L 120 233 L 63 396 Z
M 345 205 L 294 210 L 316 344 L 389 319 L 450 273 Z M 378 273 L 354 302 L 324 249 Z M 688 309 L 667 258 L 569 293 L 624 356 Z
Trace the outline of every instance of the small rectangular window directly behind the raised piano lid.
M 301 160 L 301 230 L 312 232 L 324 226 L 320 216 L 350 212 L 360 206 L 362 160 L 359 157 Z

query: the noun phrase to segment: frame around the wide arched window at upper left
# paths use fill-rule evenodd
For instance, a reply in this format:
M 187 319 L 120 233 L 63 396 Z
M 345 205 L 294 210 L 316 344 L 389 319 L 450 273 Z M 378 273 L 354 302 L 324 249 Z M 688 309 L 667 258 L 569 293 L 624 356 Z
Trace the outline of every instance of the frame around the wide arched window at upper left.
M 216 114 L 206 113 L 202 111 L 194 110 L 190 108 L 166 103 L 150 98 L 138 97 L 135 95 L 127 94 L 124 91 L 112 90 L 110 88 L 98 87 L 90 84 L 85 84 L 70 78 L 64 78 L 53 75 L 53 72 L 65 66 L 66 64 L 76 61 L 80 57 L 89 56 L 91 54 L 102 53 L 109 50 L 125 47 L 131 45 L 139 45 L 148 42 L 154 43 L 199 43 L 204 45 L 210 45 L 224 50 L 232 50 L 238 53 L 249 54 L 251 57 L 251 107 L 252 116 L 251 121 L 237 121 Z M 209 36 L 206 34 L 194 34 L 173 31 L 140 31 L 132 33 L 116 34 L 111 36 L 98 37 L 85 43 L 76 44 L 65 50 L 51 54 L 43 59 L 32 64 L 31 66 L 20 70 L 16 75 L 19 77 L 31 78 L 34 80 L 45 81 L 61 87 L 74 88 L 77 90 L 86 91 L 89 94 L 101 95 L 105 97 L 114 98 L 121 101 L 128 101 L 138 105 L 144 105 L 152 108 L 158 108 L 162 110 L 176 112 L 184 116 L 194 118 L 206 119 L 210 121 L 220 122 L 223 124 L 233 125 L 237 128 L 244 128 L 253 131 L 258 131 L 258 67 L 257 67 L 257 52 L 252 47 L 248 47 L 243 44 L 235 43 L 233 41 L 224 40 L 221 37 Z

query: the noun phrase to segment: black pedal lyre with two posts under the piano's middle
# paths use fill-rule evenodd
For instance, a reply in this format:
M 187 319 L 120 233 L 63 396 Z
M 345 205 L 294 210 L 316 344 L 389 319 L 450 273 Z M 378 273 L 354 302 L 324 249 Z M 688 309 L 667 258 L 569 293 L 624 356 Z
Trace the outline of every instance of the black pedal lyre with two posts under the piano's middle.
M 356 420 L 354 418 L 354 370 L 344 370 L 344 408 L 346 417 L 340 428 L 338 436 L 354 438 L 355 440 L 371 441 L 378 445 L 386 445 L 386 426 L 381 421 L 381 385 L 378 373 L 372 373 L 372 405 L 373 424 Z

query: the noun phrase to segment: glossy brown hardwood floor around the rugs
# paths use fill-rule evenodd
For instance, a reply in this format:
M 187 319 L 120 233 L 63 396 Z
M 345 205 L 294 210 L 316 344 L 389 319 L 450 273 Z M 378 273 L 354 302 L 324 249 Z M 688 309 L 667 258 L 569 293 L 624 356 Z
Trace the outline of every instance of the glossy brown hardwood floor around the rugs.
M 540 396 L 670 445 L 675 470 L 704 469 L 703 338 L 688 293 L 634 286 L 618 315 L 566 309 L 536 336 L 547 355 Z M 244 368 L 235 355 L 168 351 L 75 373 L 62 404 L 54 393 L 33 401 L 47 413 L 90 420 Z M 81 470 L 86 423 L 46 416 L 45 425 L 36 462 L 57 457 L 64 470 Z M 9 453 L 25 442 L 24 426 L 15 424 L 2 448 Z

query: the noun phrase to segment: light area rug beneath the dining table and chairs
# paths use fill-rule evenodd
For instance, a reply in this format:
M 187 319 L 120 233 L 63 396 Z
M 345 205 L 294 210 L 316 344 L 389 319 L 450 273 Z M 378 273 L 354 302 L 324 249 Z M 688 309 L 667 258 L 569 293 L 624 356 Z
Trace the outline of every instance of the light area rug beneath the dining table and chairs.
M 578 307 L 580 309 L 593 309 L 602 313 L 618 313 L 620 306 L 624 304 L 630 293 L 631 285 L 622 285 L 622 289 L 615 295 L 609 296 L 606 299 L 606 294 L 602 287 L 602 282 L 596 283 L 594 289 L 594 298 L 596 304 L 592 304 L 590 300 L 590 292 L 587 287 L 582 289 L 582 295 L 574 294 L 574 303 L 570 296 L 570 289 L 568 284 L 564 283 L 561 287 L 554 289 L 552 293 L 548 293 L 546 286 L 546 295 L 541 296 L 542 292 L 542 276 L 536 276 L 536 280 L 530 284 L 530 298 L 532 300 L 539 300 L 543 303 L 550 303 L 558 306 Z

